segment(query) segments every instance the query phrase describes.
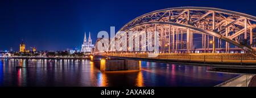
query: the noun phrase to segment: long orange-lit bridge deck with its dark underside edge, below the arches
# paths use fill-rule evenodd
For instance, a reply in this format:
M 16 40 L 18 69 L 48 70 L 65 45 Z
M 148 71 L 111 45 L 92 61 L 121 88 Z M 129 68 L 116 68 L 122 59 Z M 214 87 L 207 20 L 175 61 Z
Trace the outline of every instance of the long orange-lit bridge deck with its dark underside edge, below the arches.
M 201 63 L 203 65 L 225 65 L 226 67 L 256 67 L 256 57 L 252 54 L 231 54 L 231 53 L 201 53 L 201 54 L 158 54 L 156 57 L 150 57 L 150 54 L 101 54 L 102 56 L 148 59 L 154 61 L 165 62 L 185 62 L 185 63 Z M 234 66 L 230 66 L 234 65 Z M 223 66 L 223 67 L 225 67 Z

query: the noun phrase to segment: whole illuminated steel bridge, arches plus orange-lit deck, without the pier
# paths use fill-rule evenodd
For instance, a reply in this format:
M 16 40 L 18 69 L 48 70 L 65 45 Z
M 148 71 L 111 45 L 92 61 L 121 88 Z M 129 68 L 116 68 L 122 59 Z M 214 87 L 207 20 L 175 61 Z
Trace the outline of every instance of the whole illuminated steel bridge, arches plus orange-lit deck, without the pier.
M 241 12 L 210 7 L 175 7 L 152 11 L 125 24 L 117 32 L 111 44 L 120 44 L 129 31 L 137 31 L 132 36 L 133 48 L 97 52 L 106 56 L 148 58 L 142 51 L 142 35 L 158 31 L 159 56 L 154 59 L 203 62 L 248 62 L 255 63 L 255 26 L 256 17 Z M 121 32 L 124 31 L 124 32 Z M 144 32 L 141 32 L 144 31 Z M 146 39 L 155 39 L 146 35 Z M 113 41 L 114 40 L 114 41 Z M 127 39 L 128 40 L 128 39 Z M 130 39 L 129 39 L 130 40 Z M 128 42 L 127 42 L 128 43 Z M 129 49 L 129 45 L 127 44 Z M 110 48 L 110 46 L 108 46 Z

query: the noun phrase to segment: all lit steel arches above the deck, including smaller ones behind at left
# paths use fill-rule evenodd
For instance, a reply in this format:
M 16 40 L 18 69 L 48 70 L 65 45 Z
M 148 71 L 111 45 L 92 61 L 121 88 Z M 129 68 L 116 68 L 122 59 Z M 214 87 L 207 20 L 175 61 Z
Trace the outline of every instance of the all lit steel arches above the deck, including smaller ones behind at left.
M 212 7 L 166 8 L 138 16 L 123 25 L 114 37 L 97 40 L 96 52 L 142 53 L 137 55 L 145 56 L 143 53 L 156 53 L 154 50 L 149 52 L 147 46 L 158 44 L 159 58 L 168 58 L 167 53 L 168 56 L 174 56 L 171 53 L 186 53 L 176 56 L 182 57 L 180 59 L 192 56 L 184 56 L 187 53 L 250 53 L 255 56 L 255 27 L 256 17 L 241 12 Z M 134 33 L 130 35 L 129 32 Z M 146 32 L 152 34 L 148 35 Z M 146 42 L 148 39 L 151 41 Z M 98 45 L 104 46 L 105 50 L 99 51 Z M 201 61 L 203 57 L 198 59 Z M 215 58 L 221 57 L 225 58 Z M 217 61 L 228 60 L 232 59 Z M 246 59 L 242 61 L 247 62 Z

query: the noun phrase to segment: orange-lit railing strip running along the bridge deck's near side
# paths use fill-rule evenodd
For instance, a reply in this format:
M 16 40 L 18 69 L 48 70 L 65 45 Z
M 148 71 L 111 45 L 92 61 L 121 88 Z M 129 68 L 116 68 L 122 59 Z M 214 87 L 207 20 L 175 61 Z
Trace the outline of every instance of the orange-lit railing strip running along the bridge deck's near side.
M 104 56 L 166 59 L 175 61 L 198 61 L 198 62 L 229 62 L 229 63 L 256 63 L 256 57 L 251 54 L 159 54 L 156 57 L 148 57 L 148 54 L 102 54 Z

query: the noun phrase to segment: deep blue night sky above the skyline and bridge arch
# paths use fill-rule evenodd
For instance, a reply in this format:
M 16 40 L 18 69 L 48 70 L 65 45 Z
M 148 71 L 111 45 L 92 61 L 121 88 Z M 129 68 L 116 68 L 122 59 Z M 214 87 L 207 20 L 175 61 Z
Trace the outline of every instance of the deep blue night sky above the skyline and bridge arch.
M 18 50 L 21 39 L 38 50 L 81 47 L 84 32 L 93 43 L 99 31 L 118 31 L 130 20 L 169 7 L 202 6 L 256 16 L 256 1 L 224 0 L 1 0 L 0 50 Z

